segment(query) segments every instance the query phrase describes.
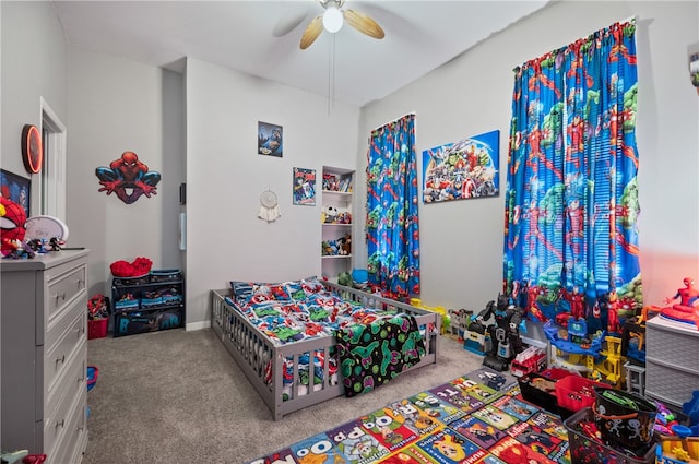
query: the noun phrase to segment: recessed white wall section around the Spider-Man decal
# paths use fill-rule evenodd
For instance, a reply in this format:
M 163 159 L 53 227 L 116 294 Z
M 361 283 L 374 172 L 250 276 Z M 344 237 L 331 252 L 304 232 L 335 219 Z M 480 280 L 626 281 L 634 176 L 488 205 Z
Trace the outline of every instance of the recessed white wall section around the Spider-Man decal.
M 91 295 L 109 295 L 109 264 L 145 257 L 181 267 L 179 185 L 185 181 L 183 79 L 102 53 L 70 49 L 67 210 L 71 243 L 91 249 Z M 126 151 L 162 175 L 156 194 L 126 204 L 95 175 Z

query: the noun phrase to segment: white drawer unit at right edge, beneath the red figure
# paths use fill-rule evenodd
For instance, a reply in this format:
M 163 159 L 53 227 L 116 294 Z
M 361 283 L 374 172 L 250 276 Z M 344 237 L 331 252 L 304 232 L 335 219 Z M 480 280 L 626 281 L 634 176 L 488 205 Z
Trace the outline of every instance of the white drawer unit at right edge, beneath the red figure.
M 660 316 L 645 322 L 645 396 L 682 407 L 699 390 L 699 330 Z

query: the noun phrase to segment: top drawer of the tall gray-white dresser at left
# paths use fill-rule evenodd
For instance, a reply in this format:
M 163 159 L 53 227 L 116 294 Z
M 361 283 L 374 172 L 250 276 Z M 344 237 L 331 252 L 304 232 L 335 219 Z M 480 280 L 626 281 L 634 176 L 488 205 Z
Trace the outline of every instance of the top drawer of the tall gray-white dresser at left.
M 68 262 L 47 271 L 46 323 L 50 331 L 54 321 L 60 318 L 61 311 L 86 294 L 85 282 L 87 267 L 85 262 Z M 86 309 L 85 309 L 86 310 Z

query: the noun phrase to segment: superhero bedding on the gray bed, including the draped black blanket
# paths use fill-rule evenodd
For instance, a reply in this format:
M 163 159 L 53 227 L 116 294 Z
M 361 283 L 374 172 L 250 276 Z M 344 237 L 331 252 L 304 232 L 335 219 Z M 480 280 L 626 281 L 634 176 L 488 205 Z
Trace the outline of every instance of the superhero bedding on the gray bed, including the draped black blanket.
M 356 369 L 345 374 L 345 378 L 353 379 L 352 386 L 345 389 L 352 390 L 348 395 L 386 383 L 402 370 L 418 362 L 425 353 L 415 318 L 344 300 L 322 285 L 312 290 L 308 287 L 299 289 L 288 286 L 284 292 L 279 288 L 260 292 L 256 288 L 249 296 L 235 300 L 226 297 L 226 301 L 244 313 L 277 346 L 303 340 L 336 336 L 340 360 L 329 360 L 331 376 L 336 378 L 339 361 L 342 362 L 346 357 L 345 366 L 350 366 L 352 361 L 348 359 L 359 356 L 355 361 Z M 368 331 L 365 332 L 364 329 Z M 365 340 L 364 334 L 368 338 Z M 375 347 L 375 353 L 368 358 L 362 358 L 362 354 L 367 353 L 366 349 Z M 299 359 L 300 382 L 308 385 L 312 376 L 312 384 L 319 386 L 322 383 L 322 354 L 315 353 L 312 360 L 309 355 Z M 292 358 L 285 359 L 285 371 L 289 373 L 283 376 L 285 388 L 293 382 L 292 364 Z M 376 374 L 370 373 L 374 366 L 378 372 Z M 364 382 L 362 376 L 365 374 L 372 380 Z M 356 379 L 362 379 L 362 389 L 355 385 Z M 268 372 L 266 380 L 272 381 L 271 371 Z

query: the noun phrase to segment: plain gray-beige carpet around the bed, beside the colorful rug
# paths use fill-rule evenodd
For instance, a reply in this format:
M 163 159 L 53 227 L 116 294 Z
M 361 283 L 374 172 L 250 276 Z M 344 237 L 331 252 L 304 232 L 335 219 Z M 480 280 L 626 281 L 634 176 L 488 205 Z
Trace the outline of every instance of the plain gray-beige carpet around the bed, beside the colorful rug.
M 87 393 L 83 464 L 242 463 L 481 367 L 447 336 L 437 365 L 377 390 L 340 396 L 274 421 L 212 330 L 169 330 L 87 344 L 99 369 Z

